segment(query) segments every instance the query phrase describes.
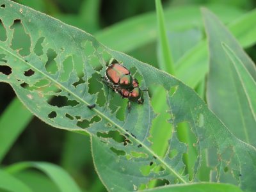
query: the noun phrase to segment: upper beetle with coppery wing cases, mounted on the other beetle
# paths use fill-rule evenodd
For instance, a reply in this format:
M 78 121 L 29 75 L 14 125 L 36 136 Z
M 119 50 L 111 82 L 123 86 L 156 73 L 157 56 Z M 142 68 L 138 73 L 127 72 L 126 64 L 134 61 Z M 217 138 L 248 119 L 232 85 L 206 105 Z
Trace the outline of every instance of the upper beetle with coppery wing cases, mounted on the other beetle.
M 124 88 L 128 91 L 133 89 L 131 72 L 120 63 L 109 65 L 104 78 L 115 87 Z

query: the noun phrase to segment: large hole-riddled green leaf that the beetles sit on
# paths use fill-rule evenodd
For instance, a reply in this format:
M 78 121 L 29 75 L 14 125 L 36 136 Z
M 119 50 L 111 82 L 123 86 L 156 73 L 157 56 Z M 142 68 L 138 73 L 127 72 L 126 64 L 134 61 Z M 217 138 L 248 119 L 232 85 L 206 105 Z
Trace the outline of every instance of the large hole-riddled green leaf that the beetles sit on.
M 124 114 L 122 99 L 100 82 L 111 57 L 136 74 L 142 88 L 164 89 L 173 127 L 182 122 L 191 127 L 198 153 L 191 182 L 198 180 L 201 154 L 208 149 L 215 155 L 211 168 L 216 180 L 255 189 L 255 148 L 237 140 L 191 88 L 59 20 L 12 1 L 1 0 L 0 6 L 4 27 L 0 81 L 9 83 L 24 105 L 47 124 L 92 136 L 95 166 L 109 191 L 144 188 L 153 179 L 189 182 L 182 161 L 188 148 L 175 129 L 165 156 L 150 148 L 156 114 L 148 93 L 143 105 L 132 103 L 131 112 Z M 89 109 L 90 104 L 95 108 Z

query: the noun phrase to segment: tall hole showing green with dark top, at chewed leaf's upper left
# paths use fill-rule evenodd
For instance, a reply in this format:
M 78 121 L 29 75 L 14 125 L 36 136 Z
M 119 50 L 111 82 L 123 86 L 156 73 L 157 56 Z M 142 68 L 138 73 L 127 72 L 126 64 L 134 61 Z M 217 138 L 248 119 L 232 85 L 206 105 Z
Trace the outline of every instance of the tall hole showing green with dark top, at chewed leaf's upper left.
M 18 50 L 21 56 L 29 55 L 31 45 L 30 36 L 24 30 L 21 20 L 14 20 L 11 29 L 14 30 L 11 48 L 13 50 Z

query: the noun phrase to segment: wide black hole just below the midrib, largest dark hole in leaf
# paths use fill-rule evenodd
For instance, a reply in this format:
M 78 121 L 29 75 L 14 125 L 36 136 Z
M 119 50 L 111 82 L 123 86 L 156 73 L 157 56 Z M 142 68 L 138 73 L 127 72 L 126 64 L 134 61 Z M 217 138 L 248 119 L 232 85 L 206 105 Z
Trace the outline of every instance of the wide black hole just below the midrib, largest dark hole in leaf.
M 77 106 L 79 102 L 77 102 L 76 100 L 69 100 L 66 96 L 54 95 L 54 97 L 52 97 L 52 99 L 49 101 L 49 104 L 51 106 L 57 106 L 58 108 L 62 108 L 64 106 Z

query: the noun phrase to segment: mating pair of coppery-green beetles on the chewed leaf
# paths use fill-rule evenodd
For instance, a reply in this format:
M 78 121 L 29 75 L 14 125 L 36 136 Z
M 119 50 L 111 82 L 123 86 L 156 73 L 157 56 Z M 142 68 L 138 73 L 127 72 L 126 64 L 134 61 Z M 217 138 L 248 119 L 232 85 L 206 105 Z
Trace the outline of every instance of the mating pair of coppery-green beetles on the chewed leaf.
M 123 98 L 129 99 L 129 111 L 131 101 L 143 104 L 143 90 L 140 89 L 137 79 L 131 76 L 131 72 L 124 65 L 120 63 L 109 65 L 102 81 Z

